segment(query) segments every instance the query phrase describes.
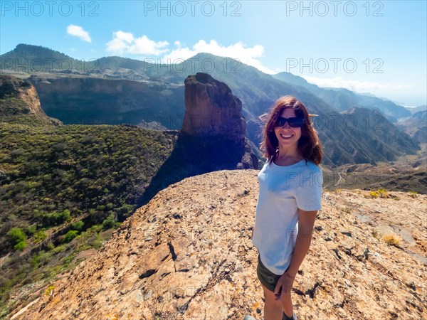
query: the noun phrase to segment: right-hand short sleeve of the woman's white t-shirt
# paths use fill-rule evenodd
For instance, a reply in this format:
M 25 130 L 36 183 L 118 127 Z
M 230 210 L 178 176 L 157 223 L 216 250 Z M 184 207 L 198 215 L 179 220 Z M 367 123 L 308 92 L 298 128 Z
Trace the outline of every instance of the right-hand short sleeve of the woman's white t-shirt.
M 322 187 L 323 174 L 320 168 L 310 174 L 302 174 L 295 193 L 297 207 L 305 211 L 322 209 Z

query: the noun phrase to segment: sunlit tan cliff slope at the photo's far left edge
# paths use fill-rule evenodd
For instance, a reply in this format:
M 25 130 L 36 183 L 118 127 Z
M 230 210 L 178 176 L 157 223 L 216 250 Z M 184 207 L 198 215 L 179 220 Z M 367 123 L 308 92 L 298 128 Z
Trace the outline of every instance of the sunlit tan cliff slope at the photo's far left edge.
M 62 124 L 43 111 L 36 87 L 9 75 L 0 76 L 0 116 L 0 121 L 17 124 L 20 117 L 26 117 L 20 124 L 28 124 L 31 118 L 35 120 L 33 124 Z

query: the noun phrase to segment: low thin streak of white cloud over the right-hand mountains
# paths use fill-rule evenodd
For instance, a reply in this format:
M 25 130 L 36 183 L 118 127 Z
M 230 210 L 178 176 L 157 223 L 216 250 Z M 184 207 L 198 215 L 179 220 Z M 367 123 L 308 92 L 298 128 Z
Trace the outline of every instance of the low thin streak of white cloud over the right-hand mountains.
M 356 92 L 376 92 L 388 90 L 404 90 L 408 89 L 408 85 L 398 85 L 396 83 L 379 83 L 371 81 L 359 80 L 344 80 L 341 77 L 336 78 L 316 78 L 310 76 L 303 76 L 310 83 L 318 85 L 319 87 L 343 87 L 348 90 Z

